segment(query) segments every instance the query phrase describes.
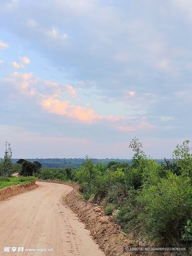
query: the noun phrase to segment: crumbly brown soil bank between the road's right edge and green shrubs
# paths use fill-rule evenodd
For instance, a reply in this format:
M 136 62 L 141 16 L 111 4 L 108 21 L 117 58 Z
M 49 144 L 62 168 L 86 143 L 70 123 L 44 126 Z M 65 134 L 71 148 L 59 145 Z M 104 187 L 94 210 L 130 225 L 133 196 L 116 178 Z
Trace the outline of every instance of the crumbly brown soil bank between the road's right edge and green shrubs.
M 123 254 L 123 247 L 133 245 L 133 240 L 124 236 L 120 226 L 114 222 L 112 216 L 106 216 L 97 204 L 92 205 L 85 201 L 77 190 L 64 196 L 63 203 L 78 214 L 106 255 L 120 256 Z M 126 255 L 135 255 L 135 253 L 126 253 Z

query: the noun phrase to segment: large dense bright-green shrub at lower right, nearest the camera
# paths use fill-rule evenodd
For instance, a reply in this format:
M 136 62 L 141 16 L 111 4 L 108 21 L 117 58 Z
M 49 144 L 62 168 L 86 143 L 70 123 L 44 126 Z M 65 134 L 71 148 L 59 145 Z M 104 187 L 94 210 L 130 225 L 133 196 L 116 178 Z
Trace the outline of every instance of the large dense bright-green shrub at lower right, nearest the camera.
M 120 210 L 117 219 L 127 232 L 132 225 L 137 235 L 149 239 L 180 240 L 181 229 L 191 217 L 190 179 L 171 172 L 167 176 L 156 185 L 144 184 Z

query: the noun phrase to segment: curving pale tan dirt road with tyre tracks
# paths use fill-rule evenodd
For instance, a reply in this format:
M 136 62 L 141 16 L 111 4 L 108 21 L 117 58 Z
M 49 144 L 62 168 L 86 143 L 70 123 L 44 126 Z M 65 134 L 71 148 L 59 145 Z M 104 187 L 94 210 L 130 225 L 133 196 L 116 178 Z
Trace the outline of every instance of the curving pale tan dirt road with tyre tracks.
M 104 256 L 84 224 L 62 205 L 61 197 L 72 188 L 37 184 L 37 189 L 0 202 L 0 255 Z M 4 252 L 4 247 L 10 247 L 10 252 Z M 11 251 L 12 247 L 17 251 Z M 18 247 L 24 251 L 18 252 Z M 25 251 L 32 248 L 53 251 Z

